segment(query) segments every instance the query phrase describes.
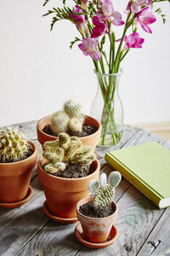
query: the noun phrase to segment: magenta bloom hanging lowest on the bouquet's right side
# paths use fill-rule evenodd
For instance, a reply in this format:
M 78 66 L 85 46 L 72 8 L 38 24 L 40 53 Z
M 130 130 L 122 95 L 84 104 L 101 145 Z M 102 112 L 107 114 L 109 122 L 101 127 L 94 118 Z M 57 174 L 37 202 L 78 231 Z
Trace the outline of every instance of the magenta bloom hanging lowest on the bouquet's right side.
M 133 32 L 128 37 L 124 38 L 125 45 L 123 49 L 129 48 L 142 48 L 142 44 L 144 44 L 144 38 L 139 38 L 139 33 Z

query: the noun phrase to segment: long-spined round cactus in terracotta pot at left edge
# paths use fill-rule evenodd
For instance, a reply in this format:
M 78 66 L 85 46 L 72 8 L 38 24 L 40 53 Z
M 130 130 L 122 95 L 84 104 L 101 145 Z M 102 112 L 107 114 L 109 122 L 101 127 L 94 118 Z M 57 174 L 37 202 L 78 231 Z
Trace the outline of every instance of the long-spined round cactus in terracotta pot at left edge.
M 28 193 L 37 148 L 16 127 L 0 131 L 0 205 L 17 207 Z M 31 189 L 31 188 L 30 188 Z

